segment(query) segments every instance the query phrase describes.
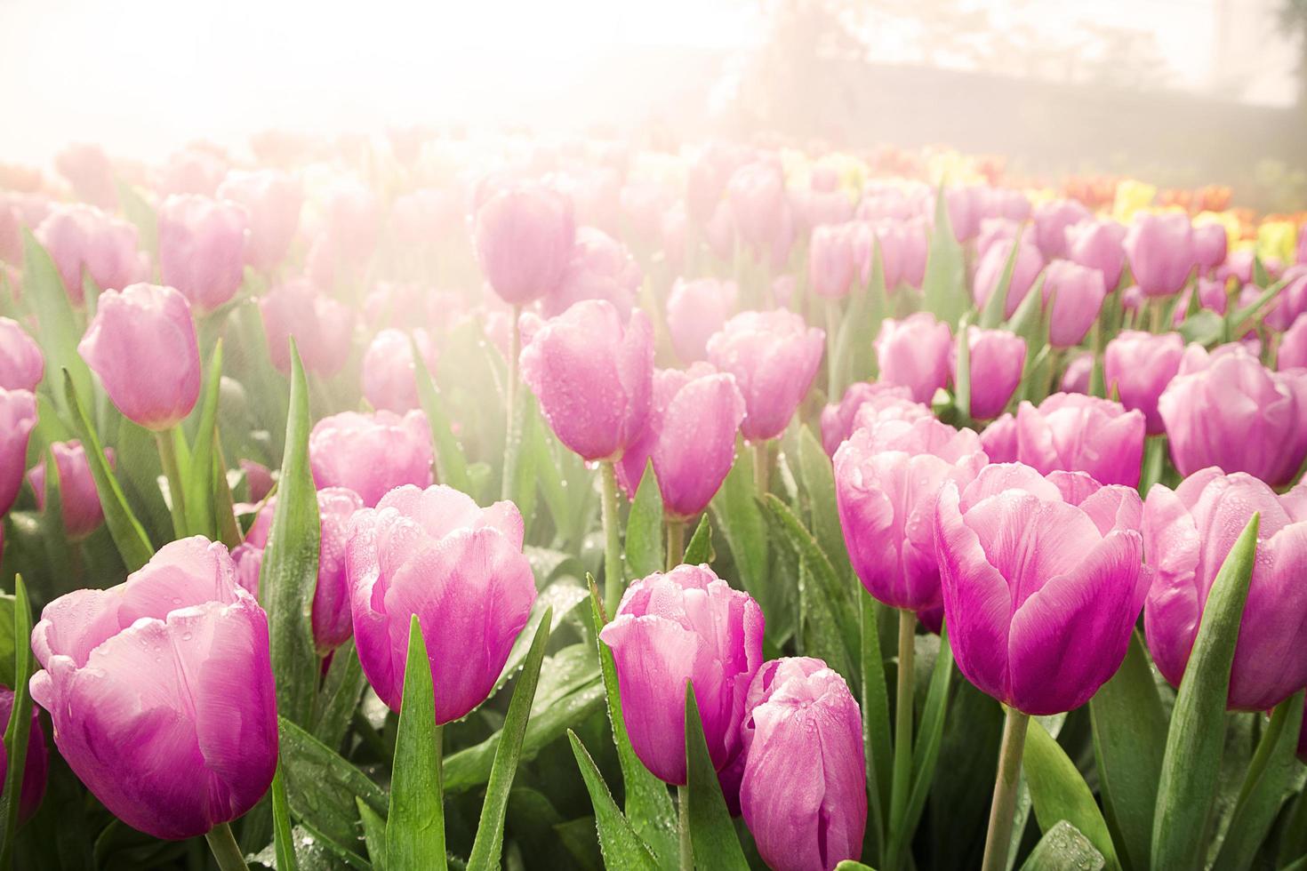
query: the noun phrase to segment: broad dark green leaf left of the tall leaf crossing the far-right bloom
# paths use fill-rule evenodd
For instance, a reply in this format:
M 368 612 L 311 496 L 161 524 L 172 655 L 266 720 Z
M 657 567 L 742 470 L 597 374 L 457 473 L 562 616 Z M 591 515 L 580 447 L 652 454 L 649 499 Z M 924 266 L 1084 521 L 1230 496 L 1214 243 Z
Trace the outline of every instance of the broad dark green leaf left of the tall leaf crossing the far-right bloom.
M 1132 868 L 1146 868 L 1166 750 L 1166 712 L 1138 632 L 1131 635 L 1121 667 L 1089 700 L 1089 716 L 1107 819 L 1119 833 L 1124 861 Z

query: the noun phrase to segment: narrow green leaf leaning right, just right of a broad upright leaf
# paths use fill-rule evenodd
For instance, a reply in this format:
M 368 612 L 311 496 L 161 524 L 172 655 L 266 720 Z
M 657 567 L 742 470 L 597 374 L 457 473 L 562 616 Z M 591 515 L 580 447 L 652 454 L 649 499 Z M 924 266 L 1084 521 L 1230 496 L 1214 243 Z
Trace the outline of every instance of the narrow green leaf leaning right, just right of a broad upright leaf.
M 486 785 L 485 802 L 481 806 L 481 821 L 477 825 L 472 855 L 468 857 L 471 871 L 495 871 L 503 850 L 503 823 L 508 810 L 508 790 L 518 773 L 518 760 L 521 753 L 521 739 L 527 734 L 527 721 L 531 717 L 531 703 L 536 697 L 536 683 L 540 679 L 540 663 L 545 658 L 545 645 L 549 644 L 549 628 L 553 624 L 552 611 L 545 611 L 540 628 L 536 629 L 527 665 L 523 667 L 518 686 L 508 703 L 499 747 L 495 748 L 494 764 L 490 767 L 490 780 Z

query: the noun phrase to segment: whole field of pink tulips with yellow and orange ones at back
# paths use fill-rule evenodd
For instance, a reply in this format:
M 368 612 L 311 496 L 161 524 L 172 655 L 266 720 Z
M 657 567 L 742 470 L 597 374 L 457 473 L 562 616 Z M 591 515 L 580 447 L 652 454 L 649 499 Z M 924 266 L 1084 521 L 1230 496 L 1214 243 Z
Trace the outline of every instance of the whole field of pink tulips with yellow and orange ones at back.
M 56 167 L 0 167 L 4 866 L 1307 868 L 1295 217 L 725 144 Z

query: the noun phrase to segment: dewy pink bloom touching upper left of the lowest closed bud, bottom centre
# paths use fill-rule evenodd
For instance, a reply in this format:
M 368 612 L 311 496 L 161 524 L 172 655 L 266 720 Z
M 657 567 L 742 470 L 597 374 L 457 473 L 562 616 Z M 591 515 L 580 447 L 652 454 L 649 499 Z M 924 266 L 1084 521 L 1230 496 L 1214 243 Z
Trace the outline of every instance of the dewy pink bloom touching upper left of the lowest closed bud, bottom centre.
M 631 584 L 599 637 L 613 650 L 622 720 L 644 767 L 685 784 L 685 684 L 718 770 L 735 756 L 749 683 L 762 666 L 763 616 L 704 565 Z

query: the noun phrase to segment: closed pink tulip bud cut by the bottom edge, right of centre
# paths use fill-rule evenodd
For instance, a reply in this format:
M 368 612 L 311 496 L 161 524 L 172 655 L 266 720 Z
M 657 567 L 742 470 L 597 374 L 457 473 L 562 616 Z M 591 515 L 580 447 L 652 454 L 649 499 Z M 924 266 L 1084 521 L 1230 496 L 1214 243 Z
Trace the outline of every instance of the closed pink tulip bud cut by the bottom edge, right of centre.
M 740 733 L 740 808 L 767 867 L 830 871 L 857 859 L 867 761 L 861 710 L 844 679 L 810 657 L 765 662 Z

